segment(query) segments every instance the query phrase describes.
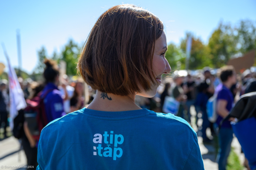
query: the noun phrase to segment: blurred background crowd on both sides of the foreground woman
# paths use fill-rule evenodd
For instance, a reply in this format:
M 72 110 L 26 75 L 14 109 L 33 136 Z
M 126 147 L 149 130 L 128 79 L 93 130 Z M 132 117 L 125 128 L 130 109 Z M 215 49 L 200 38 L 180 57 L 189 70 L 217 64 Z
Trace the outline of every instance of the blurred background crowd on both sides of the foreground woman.
M 60 79 L 58 66 L 55 61 L 46 60 L 46 68 L 44 70 L 45 82 L 34 82 L 31 79 L 23 81 L 19 78 L 20 85 L 27 99 L 28 107 L 31 106 L 29 101 L 36 101 L 38 96 L 44 96 L 45 113 L 47 122 L 60 118 L 68 113 L 80 110 L 88 105 L 96 93 L 89 86 L 89 102 L 85 103 L 84 81 L 80 78 L 70 80 L 67 75 L 63 75 Z M 241 76 L 236 75 L 232 66 L 225 66 L 219 69 L 218 75 L 211 74 L 207 68 L 197 75 L 188 74 L 186 77 L 174 76 L 165 78 L 163 85 L 157 89 L 157 95 L 153 98 L 136 96 L 135 102 L 140 108 L 146 108 L 157 112 L 164 113 L 163 105 L 166 96 L 172 96 L 176 101 L 180 102 L 177 116 L 185 119 L 191 124 L 191 106 L 195 107 L 197 113 L 196 125 L 198 119 L 202 118 L 203 123 L 199 127 L 200 136 L 203 142 L 211 143 L 212 136 L 218 134 L 219 152 L 216 161 L 219 169 L 224 169 L 227 164 L 227 157 L 230 153 L 233 132 L 229 121 L 223 122 L 219 133 L 216 131 L 223 119 L 232 109 L 234 103 L 239 96 L 255 91 L 256 74 L 250 70 L 244 71 Z M 9 97 L 8 97 L 8 81 L 2 79 L 0 81 L 0 125 L 3 126 L 3 137 L 8 137 L 6 127 L 8 125 Z M 207 116 L 207 101 L 213 95 L 217 96 L 218 119 L 215 123 L 209 122 Z M 19 111 L 24 115 L 29 111 Z M 199 116 L 198 116 L 199 115 Z M 37 145 L 39 139 L 34 139 L 29 131 L 28 122 L 23 121 L 23 128 L 15 126 L 13 132 L 15 137 L 22 139 L 23 149 L 25 150 L 29 165 L 37 166 Z M 17 124 L 19 121 L 16 121 Z M 212 136 L 207 136 L 207 128 L 210 128 Z M 21 132 L 17 132 L 17 131 Z M 17 135 L 19 134 L 19 135 Z

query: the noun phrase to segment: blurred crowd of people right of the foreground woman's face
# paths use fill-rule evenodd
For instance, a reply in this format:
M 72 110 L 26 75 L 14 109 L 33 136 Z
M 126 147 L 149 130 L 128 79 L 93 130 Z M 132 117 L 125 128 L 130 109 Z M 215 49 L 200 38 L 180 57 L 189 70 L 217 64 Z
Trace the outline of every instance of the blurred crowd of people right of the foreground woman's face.
M 174 77 L 173 81 L 166 82 L 163 93 L 160 95 L 161 108 L 163 108 L 166 96 L 172 96 L 180 102 L 177 116 L 191 122 L 190 108 L 195 106 L 196 125 L 198 125 L 198 115 L 203 119 L 201 134 L 204 143 L 212 143 L 212 136 L 218 135 L 219 149 L 216 162 L 219 170 L 225 170 L 227 158 L 231 150 L 233 131 L 230 122 L 221 121 L 226 117 L 236 101 L 243 94 L 256 91 L 256 74 L 246 70 L 241 75 L 237 75 L 233 66 L 224 66 L 219 69 L 217 75 L 211 74 L 210 70 L 205 69 L 203 74 L 186 77 Z M 216 96 L 216 112 L 218 114 L 215 122 L 209 122 L 207 115 L 207 102 L 212 96 Z M 164 112 L 162 110 L 162 112 Z M 218 127 L 221 128 L 218 131 Z M 207 136 L 207 128 L 210 128 L 212 135 Z M 250 168 L 247 165 L 247 168 Z

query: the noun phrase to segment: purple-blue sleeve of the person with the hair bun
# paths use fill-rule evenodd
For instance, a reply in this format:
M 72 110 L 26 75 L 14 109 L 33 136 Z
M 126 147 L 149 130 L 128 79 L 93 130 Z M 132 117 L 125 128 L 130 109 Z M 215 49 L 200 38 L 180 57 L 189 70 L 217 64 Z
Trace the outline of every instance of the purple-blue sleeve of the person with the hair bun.
M 66 113 L 64 112 L 63 99 L 59 94 L 54 94 L 52 96 L 52 102 L 50 103 L 50 109 L 52 113 L 52 118 L 57 119 L 64 116 Z

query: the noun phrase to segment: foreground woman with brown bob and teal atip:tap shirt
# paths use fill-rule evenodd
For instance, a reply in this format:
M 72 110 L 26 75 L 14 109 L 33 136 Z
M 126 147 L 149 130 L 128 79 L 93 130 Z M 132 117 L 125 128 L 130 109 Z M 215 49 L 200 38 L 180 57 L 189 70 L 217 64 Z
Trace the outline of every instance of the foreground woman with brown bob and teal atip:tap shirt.
M 135 104 L 153 97 L 169 74 L 163 23 L 134 5 L 105 11 L 78 62 L 97 90 L 90 105 L 50 122 L 41 132 L 38 170 L 204 170 L 195 131 L 172 114 Z

